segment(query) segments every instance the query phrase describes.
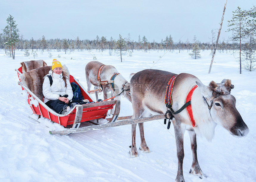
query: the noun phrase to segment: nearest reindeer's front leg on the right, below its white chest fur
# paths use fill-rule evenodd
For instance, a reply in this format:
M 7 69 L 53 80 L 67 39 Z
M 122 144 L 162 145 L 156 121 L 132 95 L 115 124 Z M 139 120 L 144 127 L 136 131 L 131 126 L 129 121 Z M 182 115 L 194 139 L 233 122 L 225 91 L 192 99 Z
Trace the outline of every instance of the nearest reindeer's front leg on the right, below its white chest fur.
M 190 172 L 193 175 L 199 176 L 199 178 L 202 179 L 202 176 L 205 176 L 202 172 L 198 160 L 197 160 L 197 144 L 196 144 L 196 133 L 195 131 L 188 131 L 189 137 L 190 137 L 190 143 L 191 143 L 191 150 L 193 155 L 193 162 L 191 165 Z M 205 176 L 206 177 L 206 176 Z

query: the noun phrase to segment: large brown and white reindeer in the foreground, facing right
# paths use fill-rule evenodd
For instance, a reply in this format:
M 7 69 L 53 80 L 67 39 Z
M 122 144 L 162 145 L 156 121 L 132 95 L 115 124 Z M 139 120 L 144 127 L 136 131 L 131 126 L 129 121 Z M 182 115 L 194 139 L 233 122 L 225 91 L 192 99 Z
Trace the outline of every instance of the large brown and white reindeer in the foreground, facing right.
M 168 81 L 175 74 L 147 69 L 136 73 L 130 81 L 133 119 L 150 114 L 164 114 L 167 111 L 165 105 L 165 91 Z M 243 137 L 248 134 L 249 129 L 243 122 L 243 119 L 235 108 L 235 98 L 230 95 L 230 90 L 234 87 L 231 80 L 223 80 L 221 83 L 210 82 L 205 86 L 202 82 L 191 74 L 179 74 L 173 85 L 172 91 L 172 109 L 179 110 L 184 105 L 190 90 L 194 89 L 191 96 L 191 109 L 196 127 L 192 126 L 188 112 L 185 110 L 179 114 L 174 114 L 172 120 L 176 138 L 178 172 L 175 181 L 185 181 L 183 177 L 183 138 L 185 130 L 188 130 L 193 162 L 190 173 L 200 178 L 204 176 L 197 160 L 196 134 L 203 135 L 207 140 L 214 136 L 216 124 L 220 124 L 228 130 L 233 136 Z M 149 153 L 149 147 L 146 144 L 143 131 L 143 123 L 139 123 L 141 146 L 140 150 Z M 135 143 L 136 124 L 132 124 L 132 146 L 129 151 L 131 157 L 137 157 L 138 151 Z

